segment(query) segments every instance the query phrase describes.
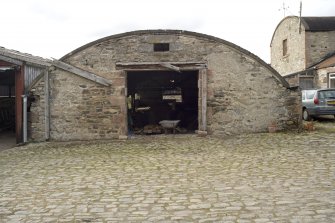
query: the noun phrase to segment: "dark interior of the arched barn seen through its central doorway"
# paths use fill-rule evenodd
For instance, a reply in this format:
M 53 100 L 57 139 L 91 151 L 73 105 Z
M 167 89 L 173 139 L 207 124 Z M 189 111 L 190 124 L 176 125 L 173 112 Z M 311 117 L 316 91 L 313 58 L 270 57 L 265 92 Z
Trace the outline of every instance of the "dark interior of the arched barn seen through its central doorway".
M 179 120 L 174 133 L 198 129 L 197 71 L 128 72 L 127 93 L 129 132 L 167 133 L 163 120 Z

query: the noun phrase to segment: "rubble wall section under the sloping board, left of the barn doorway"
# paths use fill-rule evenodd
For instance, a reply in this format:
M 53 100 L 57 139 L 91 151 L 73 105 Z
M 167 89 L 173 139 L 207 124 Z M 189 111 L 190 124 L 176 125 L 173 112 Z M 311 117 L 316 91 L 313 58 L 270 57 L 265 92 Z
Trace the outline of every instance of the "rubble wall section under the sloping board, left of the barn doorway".
M 124 87 L 124 82 L 121 83 Z M 61 69 L 50 72 L 50 138 L 110 139 L 124 135 L 124 92 Z

